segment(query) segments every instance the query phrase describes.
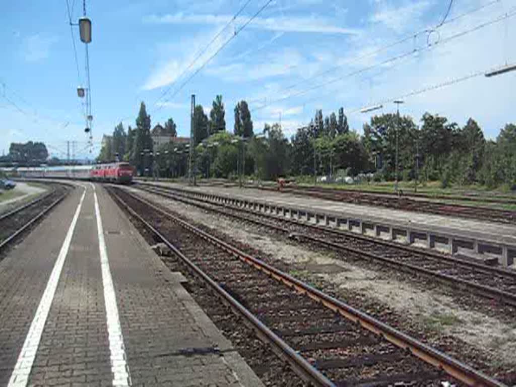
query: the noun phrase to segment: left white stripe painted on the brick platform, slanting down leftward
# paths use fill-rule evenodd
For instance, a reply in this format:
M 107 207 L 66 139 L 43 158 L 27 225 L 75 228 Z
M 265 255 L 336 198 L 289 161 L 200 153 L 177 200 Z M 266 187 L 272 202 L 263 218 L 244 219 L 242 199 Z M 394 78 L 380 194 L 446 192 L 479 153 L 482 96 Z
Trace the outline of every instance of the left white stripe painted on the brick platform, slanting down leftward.
M 65 240 L 57 256 L 57 260 L 50 274 L 49 282 L 47 282 L 43 297 L 39 301 L 38 309 L 34 315 L 34 319 L 30 324 L 27 337 L 23 343 L 22 350 L 18 356 L 18 361 L 12 370 L 11 378 L 9 379 L 8 387 L 22 387 L 26 386 L 30 375 L 30 369 L 33 366 L 34 359 L 36 358 L 36 352 L 38 351 L 39 342 L 41 340 L 41 334 L 45 327 L 46 318 L 49 316 L 50 307 L 52 306 L 52 300 L 56 293 L 57 284 L 59 283 L 59 277 L 61 276 L 61 270 L 65 264 L 65 259 L 70 248 L 70 242 L 72 241 L 73 231 L 75 224 L 79 217 L 80 208 L 83 205 L 84 197 L 86 195 L 86 188 L 84 189 L 83 196 L 80 198 L 75 214 L 72 218 L 72 223 L 68 228 Z

